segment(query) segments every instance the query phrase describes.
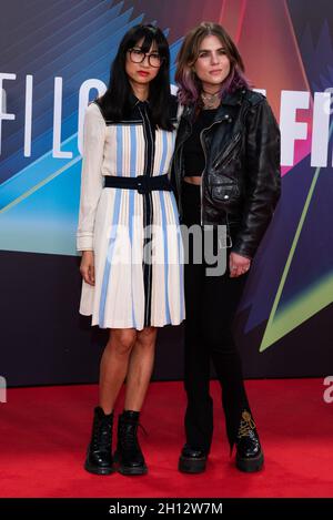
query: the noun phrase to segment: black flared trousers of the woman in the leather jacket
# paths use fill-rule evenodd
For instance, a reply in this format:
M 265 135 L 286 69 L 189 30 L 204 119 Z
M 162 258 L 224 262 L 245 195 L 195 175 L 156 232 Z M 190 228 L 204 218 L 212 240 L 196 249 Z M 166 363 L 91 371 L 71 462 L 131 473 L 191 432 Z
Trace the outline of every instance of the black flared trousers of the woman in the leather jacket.
M 183 224 L 200 224 L 200 186 L 183 182 Z M 215 246 L 215 244 L 214 244 Z M 210 396 L 210 360 L 222 387 L 226 434 L 232 448 L 244 409 L 250 406 L 243 384 L 242 366 L 232 335 L 234 315 L 246 274 L 230 278 L 229 255 L 225 274 L 206 276 L 206 264 L 185 264 L 185 356 L 184 385 L 186 442 L 210 451 L 213 435 L 213 402 Z

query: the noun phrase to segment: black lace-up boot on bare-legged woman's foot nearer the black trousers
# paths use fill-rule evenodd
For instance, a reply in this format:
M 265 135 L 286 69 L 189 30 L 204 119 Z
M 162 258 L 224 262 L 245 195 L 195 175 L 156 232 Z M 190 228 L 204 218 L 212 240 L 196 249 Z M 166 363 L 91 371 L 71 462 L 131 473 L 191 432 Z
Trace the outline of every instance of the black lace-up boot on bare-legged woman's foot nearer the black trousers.
M 114 461 L 122 475 L 148 472 L 138 440 L 139 411 L 124 410 L 118 420 L 118 443 Z

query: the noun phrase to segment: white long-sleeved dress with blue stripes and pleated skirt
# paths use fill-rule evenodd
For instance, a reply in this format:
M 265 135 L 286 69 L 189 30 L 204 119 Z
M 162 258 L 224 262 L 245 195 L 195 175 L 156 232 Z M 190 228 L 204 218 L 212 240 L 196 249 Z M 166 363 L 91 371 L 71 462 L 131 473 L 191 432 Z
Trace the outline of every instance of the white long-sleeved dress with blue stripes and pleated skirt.
M 130 118 L 118 123 L 105 120 L 95 102 L 87 109 L 77 248 L 94 253 L 95 284 L 82 282 L 80 302 L 92 325 L 142 330 L 185 317 L 173 193 L 104 187 L 107 175 L 167 174 L 174 141 L 175 131 L 152 128 L 148 103 L 134 96 Z

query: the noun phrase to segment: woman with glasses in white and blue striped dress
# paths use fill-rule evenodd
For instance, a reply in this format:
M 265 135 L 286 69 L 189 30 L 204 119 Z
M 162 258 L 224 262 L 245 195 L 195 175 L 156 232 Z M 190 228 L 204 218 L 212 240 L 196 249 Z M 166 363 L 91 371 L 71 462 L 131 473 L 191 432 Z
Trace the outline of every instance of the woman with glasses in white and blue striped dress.
M 110 332 L 84 467 L 147 473 L 138 440 L 159 327 L 184 318 L 182 241 L 168 177 L 178 101 L 169 45 L 153 26 L 123 37 L 107 92 L 85 113 L 77 247 L 80 313 Z M 125 380 L 112 456 L 113 409 Z

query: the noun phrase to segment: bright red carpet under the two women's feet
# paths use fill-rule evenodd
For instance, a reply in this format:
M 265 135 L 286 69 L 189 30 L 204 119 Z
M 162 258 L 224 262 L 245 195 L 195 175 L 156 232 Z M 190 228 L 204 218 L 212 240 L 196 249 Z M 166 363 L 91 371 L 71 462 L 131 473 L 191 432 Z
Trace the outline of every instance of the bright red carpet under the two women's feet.
M 251 380 L 246 387 L 265 453 L 262 472 L 241 473 L 229 458 L 213 383 L 208 470 L 179 473 L 182 384 L 155 383 L 142 414 L 150 471 L 137 478 L 82 468 L 97 386 L 9 389 L 0 404 L 0 497 L 333 497 L 333 402 L 323 400 L 323 379 Z

